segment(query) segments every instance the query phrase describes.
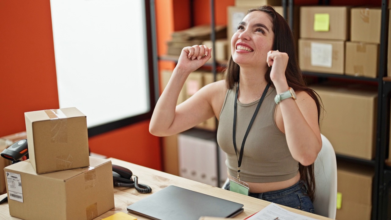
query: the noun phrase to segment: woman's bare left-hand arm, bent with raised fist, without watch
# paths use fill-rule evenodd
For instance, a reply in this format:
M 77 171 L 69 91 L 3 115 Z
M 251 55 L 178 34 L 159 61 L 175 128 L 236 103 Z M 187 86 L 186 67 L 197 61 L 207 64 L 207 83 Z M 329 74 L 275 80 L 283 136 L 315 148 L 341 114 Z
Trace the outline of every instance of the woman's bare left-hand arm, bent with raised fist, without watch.
M 149 132 L 156 136 L 173 135 L 205 121 L 213 116 L 207 100 L 208 94 L 198 91 L 190 99 L 176 106 L 179 93 L 188 75 L 210 59 L 211 48 L 194 45 L 182 49 L 172 76 L 163 90 L 153 111 Z

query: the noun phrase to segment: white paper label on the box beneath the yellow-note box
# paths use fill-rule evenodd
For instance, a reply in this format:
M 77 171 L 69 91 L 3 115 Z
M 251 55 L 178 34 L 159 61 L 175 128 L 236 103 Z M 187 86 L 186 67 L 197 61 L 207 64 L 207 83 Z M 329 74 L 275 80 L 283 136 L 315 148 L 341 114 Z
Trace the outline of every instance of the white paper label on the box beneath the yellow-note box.
M 333 45 L 331 43 L 311 43 L 311 66 L 332 67 Z

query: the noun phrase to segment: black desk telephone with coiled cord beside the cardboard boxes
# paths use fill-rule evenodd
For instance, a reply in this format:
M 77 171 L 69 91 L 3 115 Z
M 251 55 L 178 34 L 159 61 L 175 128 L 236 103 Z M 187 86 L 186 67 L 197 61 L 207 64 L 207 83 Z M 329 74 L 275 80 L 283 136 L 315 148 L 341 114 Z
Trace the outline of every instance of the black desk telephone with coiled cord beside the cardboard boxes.
M 112 164 L 112 166 L 114 186 L 134 187 L 140 193 L 150 193 L 152 191 L 151 187 L 138 183 L 138 177 L 133 175 L 129 169 L 115 164 Z M 134 180 L 132 176 L 135 176 Z

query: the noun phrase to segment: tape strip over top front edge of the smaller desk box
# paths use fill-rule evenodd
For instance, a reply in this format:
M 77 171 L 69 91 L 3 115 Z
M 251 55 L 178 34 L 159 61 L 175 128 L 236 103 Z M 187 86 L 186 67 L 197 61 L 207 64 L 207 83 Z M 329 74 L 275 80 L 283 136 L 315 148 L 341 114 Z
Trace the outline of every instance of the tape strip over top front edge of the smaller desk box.
M 50 118 L 52 143 L 67 143 L 68 142 L 68 123 L 66 115 L 60 109 L 44 110 Z

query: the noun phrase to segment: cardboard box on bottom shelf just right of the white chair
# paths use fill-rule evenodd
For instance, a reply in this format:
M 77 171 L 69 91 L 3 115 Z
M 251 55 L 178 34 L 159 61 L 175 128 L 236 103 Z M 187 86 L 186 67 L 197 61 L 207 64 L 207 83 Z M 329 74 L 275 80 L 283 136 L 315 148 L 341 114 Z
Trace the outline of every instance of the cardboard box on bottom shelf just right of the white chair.
M 337 191 L 342 199 L 336 219 L 371 220 L 373 176 L 368 167 L 337 164 Z

